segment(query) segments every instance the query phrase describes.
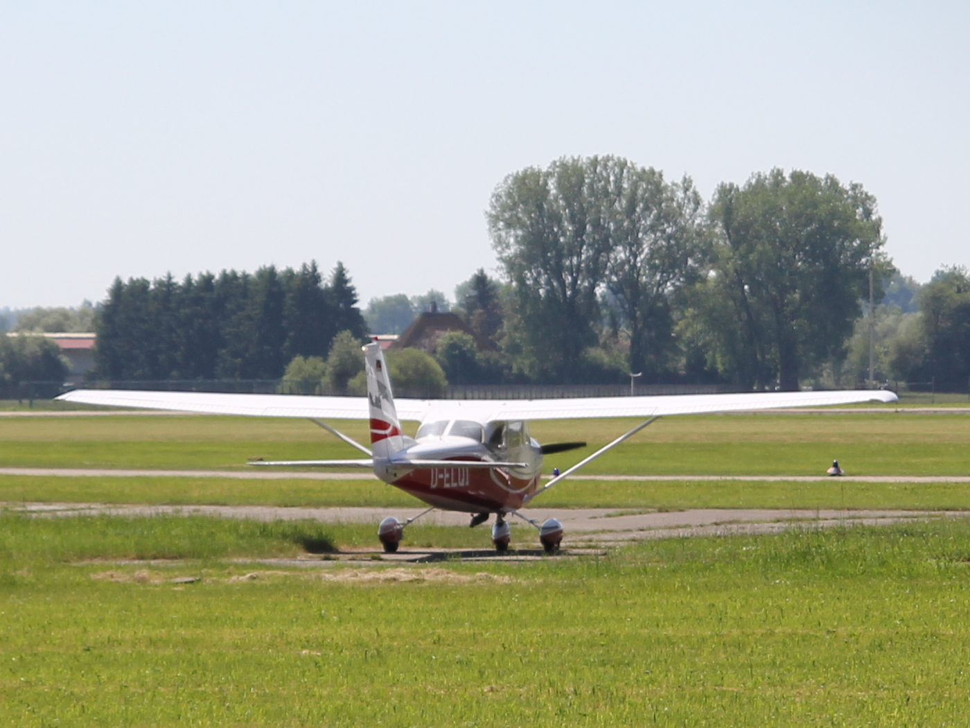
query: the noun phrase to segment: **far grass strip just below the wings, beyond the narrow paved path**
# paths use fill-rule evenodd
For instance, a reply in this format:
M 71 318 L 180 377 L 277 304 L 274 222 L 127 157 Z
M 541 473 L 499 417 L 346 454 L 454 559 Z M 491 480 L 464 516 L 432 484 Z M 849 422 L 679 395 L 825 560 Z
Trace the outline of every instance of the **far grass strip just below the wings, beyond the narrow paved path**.
M 636 420 L 533 423 L 540 443 L 584 440 L 550 456 L 564 469 Z M 413 429 L 413 423 L 408 423 Z M 364 423 L 339 423 L 366 442 Z M 610 475 L 819 475 L 838 459 L 854 475 L 970 475 L 970 415 L 723 414 L 665 417 L 589 466 Z M 245 469 L 252 457 L 360 453 L 302 419 L 272 417 L 26 417 L 0 419 L 0 466 Z

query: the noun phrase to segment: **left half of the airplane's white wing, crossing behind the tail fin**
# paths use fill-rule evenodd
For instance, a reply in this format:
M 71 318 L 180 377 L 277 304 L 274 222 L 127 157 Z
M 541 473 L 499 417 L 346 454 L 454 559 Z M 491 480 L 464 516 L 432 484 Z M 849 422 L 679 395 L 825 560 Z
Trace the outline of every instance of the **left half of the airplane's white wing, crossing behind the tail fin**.
M 75 389 L 60 395 L 64 402 L 82 402 L 139 410 L 169 410 L 252 417 L 317 417 L 370 419 L 367 397 L 308 397 L 297 394 L 224 394 L 215 392 L 152 392 L 134 389 Z M 427 400 L 395 400 L 402 419 L 424 418 Z

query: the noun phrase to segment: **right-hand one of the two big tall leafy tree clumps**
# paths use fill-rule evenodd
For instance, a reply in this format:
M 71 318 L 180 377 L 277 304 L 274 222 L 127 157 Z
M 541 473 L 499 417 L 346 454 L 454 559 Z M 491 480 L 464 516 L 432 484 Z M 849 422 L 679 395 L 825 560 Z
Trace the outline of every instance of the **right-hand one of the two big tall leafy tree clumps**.
M 722 371 L 797 389 L 852 332 L 870 266 L 888 277 L 875 198 L 831 175 L 775 169 L 718 187 L 710 219 L 715 263 L 699 309 Z

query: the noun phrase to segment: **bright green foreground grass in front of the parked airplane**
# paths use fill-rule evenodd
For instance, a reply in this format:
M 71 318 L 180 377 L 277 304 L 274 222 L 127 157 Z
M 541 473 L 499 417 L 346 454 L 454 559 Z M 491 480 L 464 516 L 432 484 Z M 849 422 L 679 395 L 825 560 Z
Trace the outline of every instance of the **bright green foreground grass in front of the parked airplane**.
M 190 585 L 8 561 L 0 721 L 957 725 L 968 562 L 949 521 Z

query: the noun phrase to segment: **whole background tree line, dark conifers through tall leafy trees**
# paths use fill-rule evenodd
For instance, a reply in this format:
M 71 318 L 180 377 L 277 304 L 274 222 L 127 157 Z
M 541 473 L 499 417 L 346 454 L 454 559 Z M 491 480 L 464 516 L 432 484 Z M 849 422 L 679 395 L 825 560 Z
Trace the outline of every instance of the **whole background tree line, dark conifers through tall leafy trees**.
M 429 391 L 444 381 L 630 374 L 794 389 L 865 383 L 871 281 L 877 381 L 962 387 L 970 378 L 966 270 L 943 269 L 924 286 L 900 276 L 876 200 L 857 183 L 776 169 L 721 184 L 705 201 L 689 177 L 669 181 L 614 156 L 566 157 L 507 176 L 487 221 L 499 276 L 479 269 L 453 302 L 431 290 L 375 298 L 362 312 L 341 264 L 324 281 L 309 263 L 115 280 L 75 319 L 39 310 L 26 320 L 93 318 L 101 379 L 285 374 L 302 389 L 355 393 L 359 344 L 400 333 L 434 301 L 476 338 L 451 332 L 430 355 L 402 359 L 399 375 Z

